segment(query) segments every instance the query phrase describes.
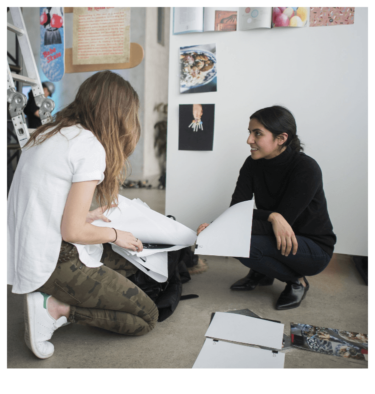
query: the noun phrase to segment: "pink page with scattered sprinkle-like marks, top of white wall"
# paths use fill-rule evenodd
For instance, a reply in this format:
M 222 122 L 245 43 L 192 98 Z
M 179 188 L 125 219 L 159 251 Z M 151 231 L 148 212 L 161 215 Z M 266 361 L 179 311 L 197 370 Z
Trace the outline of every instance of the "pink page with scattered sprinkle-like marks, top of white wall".
M 353 23 L 354 7 L 310 7 L 310 27 Z

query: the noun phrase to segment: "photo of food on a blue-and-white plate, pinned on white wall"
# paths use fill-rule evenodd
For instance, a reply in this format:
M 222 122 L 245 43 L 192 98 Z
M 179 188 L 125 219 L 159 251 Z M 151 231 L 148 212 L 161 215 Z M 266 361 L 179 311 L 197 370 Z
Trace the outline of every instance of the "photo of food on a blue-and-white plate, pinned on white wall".
M 180 93 L 216 92 L 216 44 L 179 49 Z

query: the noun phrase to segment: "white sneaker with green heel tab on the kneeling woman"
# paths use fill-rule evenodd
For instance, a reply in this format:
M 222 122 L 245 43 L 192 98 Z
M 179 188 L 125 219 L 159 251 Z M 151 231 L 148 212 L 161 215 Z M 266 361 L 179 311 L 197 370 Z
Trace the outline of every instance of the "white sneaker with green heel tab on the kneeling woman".
M 27 347 L 39 358 L 48 358 L 53 354 L 52 343 L 47 342 L 53 331 L 66 323 L 66 317 L 55 320 L 47 310 L 48 294 L 35 291 L 27 293 L 23 299 L 24 340 Z

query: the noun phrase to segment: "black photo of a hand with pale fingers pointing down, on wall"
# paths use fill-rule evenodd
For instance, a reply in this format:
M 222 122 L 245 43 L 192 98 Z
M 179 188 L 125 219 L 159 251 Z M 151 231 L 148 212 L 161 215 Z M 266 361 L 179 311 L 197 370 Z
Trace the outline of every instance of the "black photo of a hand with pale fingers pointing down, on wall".
M 178 150 L 211 151 L 214 115 L 214 104 L 180 104 Z

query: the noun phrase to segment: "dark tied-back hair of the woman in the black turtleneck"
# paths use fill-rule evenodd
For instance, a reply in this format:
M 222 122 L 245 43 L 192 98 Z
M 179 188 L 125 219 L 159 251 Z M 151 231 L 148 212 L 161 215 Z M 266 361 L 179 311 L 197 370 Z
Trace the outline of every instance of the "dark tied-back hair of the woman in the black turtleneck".
M 287 140 L 280 146 L 290 146 L 297 152 L 303 152 L 302 143 L 297 136 L 297 126 L 292 113 L 285 107 L 274 105 L 254 112 L 250 119 L 257 119 L 268 131 L 273 134 L 273 139 L 282 133 L 288 135 Z

